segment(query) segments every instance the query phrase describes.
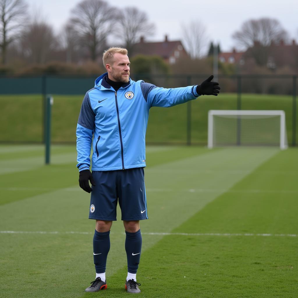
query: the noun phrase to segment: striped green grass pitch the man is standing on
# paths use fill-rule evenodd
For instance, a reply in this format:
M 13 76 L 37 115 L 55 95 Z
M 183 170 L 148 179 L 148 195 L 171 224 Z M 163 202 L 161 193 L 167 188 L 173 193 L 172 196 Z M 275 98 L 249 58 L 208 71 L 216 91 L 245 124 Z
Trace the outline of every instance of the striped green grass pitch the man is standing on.
M 122 222 L 94 280 L 74 146 L 0 146 L 0 297 L 127 297 Z M 148 147 L 139 297 L 297 297 L 298 150 Z M 120 210 L 118 213 L 120 216 Z

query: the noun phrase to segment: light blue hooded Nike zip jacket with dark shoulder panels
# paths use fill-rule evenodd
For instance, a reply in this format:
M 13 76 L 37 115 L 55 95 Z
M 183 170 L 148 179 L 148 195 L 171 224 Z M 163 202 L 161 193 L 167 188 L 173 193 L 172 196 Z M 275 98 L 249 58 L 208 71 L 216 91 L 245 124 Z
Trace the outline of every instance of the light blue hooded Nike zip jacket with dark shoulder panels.
M 77 167 L 79 171 L 89 169 L 92 137 L 93 171 L 145 167 L 149 109 L 197 98 L 196 85 L 165 89 L 130 79 L 115 92 L 106 75 L 95 80 L 83 99 L 77 123 Z

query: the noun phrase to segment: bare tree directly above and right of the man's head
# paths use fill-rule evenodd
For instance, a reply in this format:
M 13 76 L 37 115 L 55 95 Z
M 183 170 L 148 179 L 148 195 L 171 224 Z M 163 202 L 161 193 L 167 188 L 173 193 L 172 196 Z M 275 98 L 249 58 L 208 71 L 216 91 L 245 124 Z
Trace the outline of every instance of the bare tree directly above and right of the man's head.
M 125 7 L 119 13 L 118 27 L 115 35 L 130 55 L 141 36 L 153 35 L 155 25 L 150 23 L 145 12 L 138 10 L 136 7 Z

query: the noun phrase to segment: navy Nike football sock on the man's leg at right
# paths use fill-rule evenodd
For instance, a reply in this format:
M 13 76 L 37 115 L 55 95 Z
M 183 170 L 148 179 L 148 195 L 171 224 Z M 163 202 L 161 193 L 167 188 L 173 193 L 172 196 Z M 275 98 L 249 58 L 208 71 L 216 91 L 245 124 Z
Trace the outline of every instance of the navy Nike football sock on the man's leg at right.
M 135 233 L 126 232 L 125 251 L 127 256 L 127 269 L 130 273 L 136 273 L 140 263 L 142 235 L 141 230 Z

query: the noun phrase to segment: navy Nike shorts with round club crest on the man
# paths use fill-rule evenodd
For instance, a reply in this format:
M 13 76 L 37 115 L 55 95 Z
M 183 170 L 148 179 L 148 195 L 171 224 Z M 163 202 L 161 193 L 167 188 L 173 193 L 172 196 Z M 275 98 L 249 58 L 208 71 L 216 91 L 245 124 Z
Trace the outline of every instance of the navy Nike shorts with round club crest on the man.
M 148 219 L 144 168 L 93 171 L 89 218 L 116 221 L 117 202 L 122 221 Z

